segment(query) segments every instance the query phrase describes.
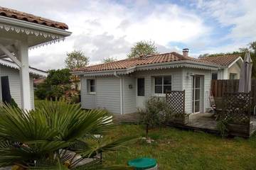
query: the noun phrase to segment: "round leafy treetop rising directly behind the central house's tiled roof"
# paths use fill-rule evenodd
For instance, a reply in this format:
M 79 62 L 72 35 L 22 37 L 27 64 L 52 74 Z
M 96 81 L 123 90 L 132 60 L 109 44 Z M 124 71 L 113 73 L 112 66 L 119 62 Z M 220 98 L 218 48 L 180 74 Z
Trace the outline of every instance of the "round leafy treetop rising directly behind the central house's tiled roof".
M 136 42 L 134 47 L 131 48 L 131 52 L 127 55 L 128 58 L 140 57 L 144 55 L 158 54 L 157 47 L 152 41 L 142 40 Z

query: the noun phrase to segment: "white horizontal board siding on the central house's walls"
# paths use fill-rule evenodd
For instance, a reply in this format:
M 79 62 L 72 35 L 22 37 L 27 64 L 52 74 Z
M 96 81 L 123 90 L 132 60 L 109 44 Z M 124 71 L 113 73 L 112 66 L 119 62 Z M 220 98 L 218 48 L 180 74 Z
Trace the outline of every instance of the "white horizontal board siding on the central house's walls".
M 185 110 L 186 113 L 192 112 L 192 77 L 189 74 L 198 74 L 202 76 L 202 103 L 201 111 L 206 111 L 210 107 L 209 93 L 211 72 L 203 69 L 161 69 L 153 71 L 141 71 L 122 77 L 122 96 L 123 113 L 134 113 L 137 111 L 137 77 L 145 78 L 145 97 L 154 96 L 154 77 L 171 75 L 171 89 L 174 91 L 186 91 Z M 90 79 L 90 78 L 88 78 Z M 129 89 L 129 84 L 132 89 Z M 162 94 L 160 96 L 165 96 Z M 81 78 L 81 105 L 82 108 L 106 108 L 112 113 L 121 113 L 120 111 L 120 78 L 117 77 L 97 77 L 96 94 L 87 93 L 86 78 Z

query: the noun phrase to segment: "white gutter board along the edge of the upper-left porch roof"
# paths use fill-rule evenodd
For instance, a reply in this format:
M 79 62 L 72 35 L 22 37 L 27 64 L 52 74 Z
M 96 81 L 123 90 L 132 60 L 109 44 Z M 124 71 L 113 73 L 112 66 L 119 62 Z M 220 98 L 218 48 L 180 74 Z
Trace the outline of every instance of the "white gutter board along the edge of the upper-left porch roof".
M 7 18 L 4 16 L 0 16 L 0 23 L 6 23 L 6 24 L 9 24 L 12 26 L 18 26 L 18 27 L 23 27 L 23 28 L 33 29 L 33 30 L 41 30 L 46 33 L 62 35 L 63 37 L 67 37 L 67 36 L 71 35 L 71 32 L 69 32 L 67 30 L 61 30 L 58 28 L 43 26 L 38 23 L 30 23 L 27 21 L 18 20 L 15 18 Z

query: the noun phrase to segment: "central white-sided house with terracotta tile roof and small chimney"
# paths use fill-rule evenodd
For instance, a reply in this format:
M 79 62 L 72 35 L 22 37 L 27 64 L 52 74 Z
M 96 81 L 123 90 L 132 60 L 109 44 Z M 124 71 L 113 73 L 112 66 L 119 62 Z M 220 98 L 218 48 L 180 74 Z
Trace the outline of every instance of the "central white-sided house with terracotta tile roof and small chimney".
M 202 113 L 210 107 L 212 72 L 222 66 L 170 52 L 75 69 L 81 79 L 82 108 L 106 108 L 112 113 L 135 113 L 151 96 L 166 90 L 185 90 L 186 113 Z

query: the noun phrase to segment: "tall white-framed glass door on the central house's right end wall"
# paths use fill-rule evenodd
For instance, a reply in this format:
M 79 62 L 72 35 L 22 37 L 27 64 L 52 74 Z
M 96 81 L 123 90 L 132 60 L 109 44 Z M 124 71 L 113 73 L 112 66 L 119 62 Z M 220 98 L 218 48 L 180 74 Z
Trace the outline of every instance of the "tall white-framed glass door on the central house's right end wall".
M 200 113 L 201 103 L 201 82 L 200 76 L 193 76 L 193 88 L 192 88 L 192 113 Z

